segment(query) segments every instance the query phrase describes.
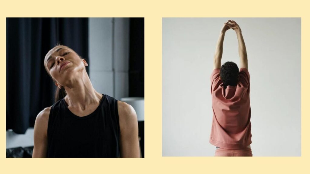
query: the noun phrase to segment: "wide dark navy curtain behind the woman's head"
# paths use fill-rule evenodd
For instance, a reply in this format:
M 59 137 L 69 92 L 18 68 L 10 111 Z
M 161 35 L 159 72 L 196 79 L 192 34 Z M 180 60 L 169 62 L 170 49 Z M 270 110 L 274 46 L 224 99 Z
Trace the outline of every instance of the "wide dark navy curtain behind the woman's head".
M 7 129 L 24 134 L 38 113 L 54 103 L 55 84 L 43 65 L 47 52 L 59 43 L 88 61 L 88 18 L 7 18 L 6 22 Z

